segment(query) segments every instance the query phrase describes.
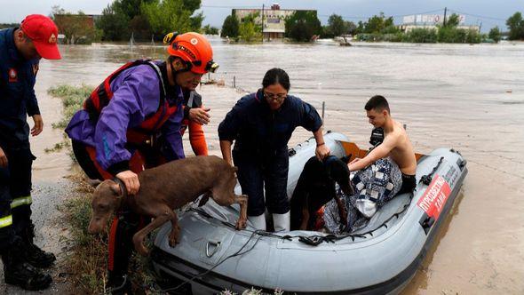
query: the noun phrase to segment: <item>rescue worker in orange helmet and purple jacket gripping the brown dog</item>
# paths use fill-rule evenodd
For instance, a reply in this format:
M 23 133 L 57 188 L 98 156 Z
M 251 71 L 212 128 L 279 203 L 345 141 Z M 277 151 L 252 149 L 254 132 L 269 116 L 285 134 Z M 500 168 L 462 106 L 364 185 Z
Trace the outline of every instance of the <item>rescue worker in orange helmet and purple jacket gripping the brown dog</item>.
M 200 34 L 170 33 L 164 43 L 169 44 L 166 61 L 135 60 L 117 69 L 66 128 L 87 176 L 120 179 L 131 195 L 139 191 L 140 171 L 185 157 L 183 91 L 194 91 L 203 74 L 218 68 L 210 43 Z M 131 238 L 148 221 L 132 211 L 118 213 L 113 221 L 107 285 L 114 294 L 131 293 Z

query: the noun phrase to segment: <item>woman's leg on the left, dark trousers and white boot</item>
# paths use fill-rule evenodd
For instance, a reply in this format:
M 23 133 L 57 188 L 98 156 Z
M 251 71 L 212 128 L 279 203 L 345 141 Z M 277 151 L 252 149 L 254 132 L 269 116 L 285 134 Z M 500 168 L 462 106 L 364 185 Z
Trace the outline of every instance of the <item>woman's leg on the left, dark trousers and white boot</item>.
M 248 219 L 257 229 L 266 230 L 266 205 L 262 171 L 258 159 L 233 152 L 234 165 L 242 195 L 248 195 Z

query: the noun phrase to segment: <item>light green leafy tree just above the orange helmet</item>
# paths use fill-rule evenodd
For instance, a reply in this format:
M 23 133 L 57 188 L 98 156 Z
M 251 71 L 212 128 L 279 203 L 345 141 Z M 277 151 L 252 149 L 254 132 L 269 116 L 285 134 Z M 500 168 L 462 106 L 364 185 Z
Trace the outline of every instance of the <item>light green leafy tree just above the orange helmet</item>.
M 188 9 L 185 3 L 187 0 L 155 0 L 151 3 L 142 3 L 140 10 L 147 18 L 155 35 L 163 36 L 172 31 L 200 30 L 202 14 L 199 13 L 192 17 L 195 10 Z M 200 6 L 200 1 L 198 6 Z M 189 7 L 195 8 L 195 5 Z

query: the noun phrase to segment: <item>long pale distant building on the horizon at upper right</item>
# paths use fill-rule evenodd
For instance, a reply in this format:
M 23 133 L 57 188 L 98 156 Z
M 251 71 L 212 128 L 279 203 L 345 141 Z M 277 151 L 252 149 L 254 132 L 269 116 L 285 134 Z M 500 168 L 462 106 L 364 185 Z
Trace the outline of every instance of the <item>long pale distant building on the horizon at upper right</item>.
M 449 15 L 446 16 L 446 20 L 449 20 Z M 464 25 L 465 15 L 460 14 L 458 16 L 458 26 L 457 28 L 463 29 L 473 29 L 480 33 L 479 26 L 468 26 Z M 414 28 L 437 28 L 437 26 L 442 26 L 444 24 L 444 15 L 441 14 L 417 14 L 417 15 L 408 15 L 403 18 L 402 24 L 400 26 L 401 30 L 406 33 L 409 33 Z

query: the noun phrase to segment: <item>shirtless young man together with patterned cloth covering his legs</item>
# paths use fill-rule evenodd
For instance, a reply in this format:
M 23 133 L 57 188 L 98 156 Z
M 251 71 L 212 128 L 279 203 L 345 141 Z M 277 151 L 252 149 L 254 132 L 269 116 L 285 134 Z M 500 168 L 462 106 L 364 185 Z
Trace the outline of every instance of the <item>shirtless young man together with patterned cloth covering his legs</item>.
M 349 171 L 357 171 L 352 179 L 355 194 L 337 191 L 345 203 L 347 219 L 340 220 L 337 203 L 330 201 L 324 208 L 324 225 L 332 234 L 353 232 L 363 224 L 362 217 L 370 219 L 395 195 L 411 193 L 416 187 L 417 159 L 408 134 L 393 120 L 389 105 L 383 96 L 376 95 L 366 103 L 369 123 L 384 129 L 384 141 L 368 155 L 348 164 Z

